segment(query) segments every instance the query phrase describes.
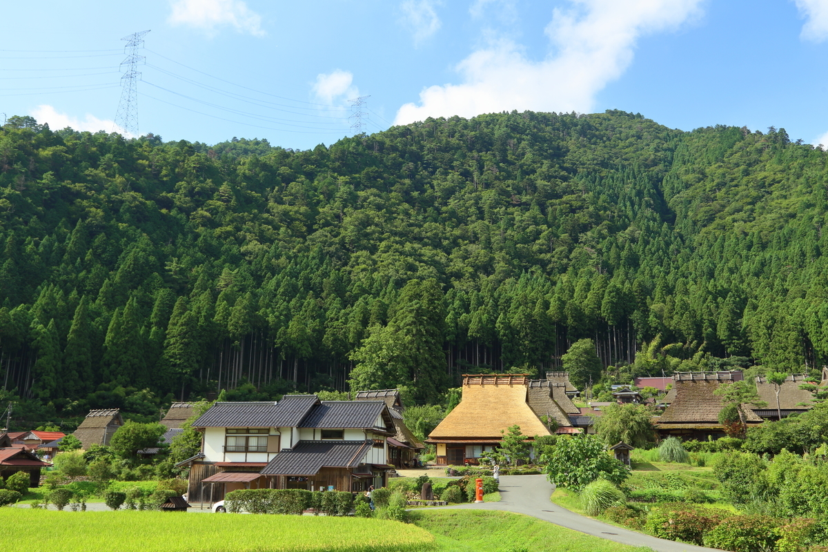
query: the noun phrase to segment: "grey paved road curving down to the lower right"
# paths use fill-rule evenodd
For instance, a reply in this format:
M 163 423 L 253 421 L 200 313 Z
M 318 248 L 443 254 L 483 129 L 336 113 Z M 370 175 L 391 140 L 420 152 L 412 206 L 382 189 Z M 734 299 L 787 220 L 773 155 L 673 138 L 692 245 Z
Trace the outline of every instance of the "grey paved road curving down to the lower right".
M 587 535 L 614 540 L 624 545 L 649 546 L 657 552 L 720 552 L 713 548 L 686 545 L 673 540 L 657 539 L 633 530 L 611 526 L 590 517 L 581 516 L 549 500 L 555 487 L 543 475 L 503 475 L 500 477 L 500 502 L 442 506 L 473 510 L 504 510 L 551 521 Z

